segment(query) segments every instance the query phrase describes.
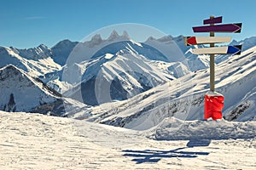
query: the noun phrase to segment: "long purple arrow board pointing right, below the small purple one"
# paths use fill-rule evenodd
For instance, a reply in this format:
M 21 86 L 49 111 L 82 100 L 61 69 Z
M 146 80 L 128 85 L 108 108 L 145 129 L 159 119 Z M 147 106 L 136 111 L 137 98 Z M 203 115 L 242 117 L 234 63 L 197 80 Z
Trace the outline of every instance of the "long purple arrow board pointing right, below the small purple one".
M 195 26 L 193 27 L 194 32 L 241 32 L 241 23 L 237 24 L 224 24 L 215 26 Z

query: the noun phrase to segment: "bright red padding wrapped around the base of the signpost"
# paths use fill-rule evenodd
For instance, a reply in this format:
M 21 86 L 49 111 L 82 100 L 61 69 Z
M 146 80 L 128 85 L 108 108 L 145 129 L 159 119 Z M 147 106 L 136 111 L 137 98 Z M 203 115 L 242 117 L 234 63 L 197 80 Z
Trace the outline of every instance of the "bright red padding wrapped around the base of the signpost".
M 212 117 L 215 121 L 222 118 L 222 109 L 224 108 L 224 96 L 205 95 L 205 119 Z

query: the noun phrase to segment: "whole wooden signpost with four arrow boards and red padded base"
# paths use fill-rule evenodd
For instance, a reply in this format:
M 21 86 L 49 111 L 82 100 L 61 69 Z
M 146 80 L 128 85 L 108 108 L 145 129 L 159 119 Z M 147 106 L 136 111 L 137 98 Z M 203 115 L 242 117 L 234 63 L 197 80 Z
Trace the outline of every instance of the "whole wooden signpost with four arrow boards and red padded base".
M 241 54 L 241 45 L 215 47 L 215 43 L 230 42 L 230 37 L 214 37 L 215 32 L 241 32 L 241 23 L 222 24 L 222 16 L 210 16 L 210 19 L 204 20 L 203 24 L 210 26 L 195 26 L 194 32 L 210 32 L 210 37 L 184 37 L 185 45 L 209 44 L 209 48 L 194 48 L 193 54 L 210 54 L 210 92 L 205 95 L 205 118 L 212 117 L 213 120 L 222 118 L 222 109 L 224 107 L 224 96 L 215 92 L 214 87 L 214 55 L 215 54 Z

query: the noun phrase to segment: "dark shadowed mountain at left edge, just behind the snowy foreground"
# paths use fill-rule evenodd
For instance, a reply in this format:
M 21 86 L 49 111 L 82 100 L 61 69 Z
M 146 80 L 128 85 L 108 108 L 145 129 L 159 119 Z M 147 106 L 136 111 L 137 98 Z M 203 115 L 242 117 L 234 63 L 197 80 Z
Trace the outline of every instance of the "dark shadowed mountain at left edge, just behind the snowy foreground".
M 86 106 L 72 99 L 61 98 L 61 94 L 49 88 L 38 78 L 27 75 L 14 65 L 0 69 L 0 110 L 39 112 L 54 116 L 72 114 Z

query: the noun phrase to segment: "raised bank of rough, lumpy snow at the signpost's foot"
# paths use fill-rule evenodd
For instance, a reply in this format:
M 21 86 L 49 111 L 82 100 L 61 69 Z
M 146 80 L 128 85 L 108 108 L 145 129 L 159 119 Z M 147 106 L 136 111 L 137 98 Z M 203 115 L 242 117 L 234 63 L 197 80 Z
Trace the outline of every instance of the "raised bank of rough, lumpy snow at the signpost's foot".
M 256 122 L 183 121 L 166 118 L 154 127 L 149 138 L 158 140 L 253 139 Z

